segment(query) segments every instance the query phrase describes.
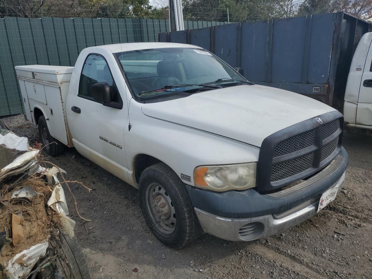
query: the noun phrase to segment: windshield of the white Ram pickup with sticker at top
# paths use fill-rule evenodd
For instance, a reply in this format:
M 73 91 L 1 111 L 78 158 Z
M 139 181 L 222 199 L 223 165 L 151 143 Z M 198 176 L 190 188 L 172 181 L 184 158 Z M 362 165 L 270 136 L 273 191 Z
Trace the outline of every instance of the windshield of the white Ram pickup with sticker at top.
M 155 48 L 115 54 L 135 97 L 154 99 L 249 83 L 201 48 Z

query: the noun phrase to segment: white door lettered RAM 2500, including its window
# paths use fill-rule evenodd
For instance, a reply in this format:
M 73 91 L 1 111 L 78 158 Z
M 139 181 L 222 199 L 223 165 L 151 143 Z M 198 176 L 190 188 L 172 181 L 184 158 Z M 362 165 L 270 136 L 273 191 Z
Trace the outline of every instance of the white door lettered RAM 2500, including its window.
M 126 92 L 125 87 L 117 86 L 113 78 L 112 73 L 117 79 L 118 73 L 121 75 L 117 63 L 110 62 L 111 64 L 99 54 L 86 56 L 80 78 L 74 81 L 75 92 L 69 92 L 68 123 L 74 146 L 80 154 L 122 180 L 127 180 L 124 151 L 124 127 L 128 129 Z M 78 64 L 79 61 L 76 65 Z M 124 82 L 122 76 L 121 79 Z M 104 105 L 102 96 L 97 96 L 92 90 L 93 84 L 98 82 L 106 82 L 109 85 L 112 106 Z

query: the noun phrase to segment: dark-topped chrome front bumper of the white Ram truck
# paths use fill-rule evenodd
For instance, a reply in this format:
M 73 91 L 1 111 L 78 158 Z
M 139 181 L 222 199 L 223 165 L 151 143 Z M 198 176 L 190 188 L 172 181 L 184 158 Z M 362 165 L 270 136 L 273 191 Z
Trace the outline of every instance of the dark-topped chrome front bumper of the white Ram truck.
M 330 188 L 339 188 L 337 193 L 340 191 L 346 177 L 347 159 L 346 151 L 341 148 L 340 154 L 322 171 L 305 182 L 272 194 L 260 195 L 253 189 L 211 193 L 214 200 L 216 200 L 216 195 L 222 197 L 217 207 L 208 206 L 206 202 L 203 204 L 206 205 L 204 208 L 198 207 L 198 205 L 202 205 L 198 203 L 200 197 L 196 198 L 195 192 L 191 188 L 189 188 L 189 193 L 204 231 L 225 240 L 256 240 L 294 227 L 315 215 L 323 192 Z M 327 184 L 324 185 L 324 182 Z M 250 190 L 257 193 L 258 196 Z M 244 192 L 245 201 L 242 203 L 242 199 L 238 199 L 238 201 L 229 199 L 229 196 L 237 197 L 234 192 Z M 198 193 L 200 192 L 198 191 Z M 271 202 L 271 204 L 267 204 L 267 202 Z M 247 212 L 246 208 L 251 208 L 252 203 L 256 205 L 255 210 Z M 272 208 L 272 204 L 275 205 L 275 208 Z M 219 210 L 218 214 L 213 212 L 214 208 L 221 207 L 223 209 Z M 208 211 L 205 208 L 212 210 Z M 266 212 L 266 214 L 259 215 L 259 212 Z M 244 215 L 246 217 L 242 217 Z

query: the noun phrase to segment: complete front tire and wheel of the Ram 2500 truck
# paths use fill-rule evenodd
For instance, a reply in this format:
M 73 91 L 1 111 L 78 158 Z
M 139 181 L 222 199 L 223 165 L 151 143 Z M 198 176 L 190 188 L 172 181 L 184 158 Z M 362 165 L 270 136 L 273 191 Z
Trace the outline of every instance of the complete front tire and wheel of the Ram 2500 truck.
M 142 214 L 161 242 L 179 249 L 202 234 L 185 184 L 170 167 L 164 163 L 148 167 L 138 186 Z

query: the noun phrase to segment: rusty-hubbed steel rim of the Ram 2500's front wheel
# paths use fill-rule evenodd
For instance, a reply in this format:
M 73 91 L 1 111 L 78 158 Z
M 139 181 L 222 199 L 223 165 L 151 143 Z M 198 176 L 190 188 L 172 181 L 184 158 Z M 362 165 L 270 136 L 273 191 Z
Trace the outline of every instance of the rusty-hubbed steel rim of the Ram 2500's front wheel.
M 176 211 L 167 191 L 159 183 L 152 182 L 146 190 L 147 209 L 155 227 L 164 234 L 176 229 Z

